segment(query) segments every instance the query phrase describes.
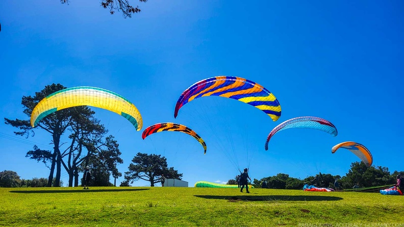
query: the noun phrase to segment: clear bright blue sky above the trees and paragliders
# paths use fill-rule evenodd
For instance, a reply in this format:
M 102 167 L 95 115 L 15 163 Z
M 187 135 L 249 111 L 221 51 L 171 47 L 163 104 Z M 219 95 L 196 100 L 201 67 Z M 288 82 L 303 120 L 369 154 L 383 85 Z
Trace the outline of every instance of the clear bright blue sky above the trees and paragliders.
M 1 1 L 2 119 L 27 119 L 22 96 L 48 84 L 94 86 L 131 100 L 143 130 L 158 122 L 182 123 L 208 146 L 203 155 L 196 140 L 175 132 L 142 140 L 129 121 L 94 108 L 120 145 L 122 173 L 141 152 L 165 156 L 191 187 L 233 179 L 237 167 L 249 167 L 253 179 L 280 172 L 301 179 L 318 172 L 344 175 L 359 161 L 348 150 L 331 154 L 344 141 L 365 145 L 374 165 L 403 170 L 397 161 L 404 127 L 402 1 L 132 3 L 142 12 L 124 19 L 97 1 Z M 273 122 L 236 100 L 206 97 L 185 105 L 174 119 L 180 94 L 217 75 L 263 85 L 279 100 L 281 118 Z M 325 118 L 339 134 L 285 130 L 266 151 L 268 133 L 298 116 Z M 52 147 L 50 135 L 37 130 L 26 139 L 15 130 L 0 124 L 0 170 L 46 178 L 48 169 L 25 155 L 34 144 Z M 67 173 L 62 176 L 66 185 Z

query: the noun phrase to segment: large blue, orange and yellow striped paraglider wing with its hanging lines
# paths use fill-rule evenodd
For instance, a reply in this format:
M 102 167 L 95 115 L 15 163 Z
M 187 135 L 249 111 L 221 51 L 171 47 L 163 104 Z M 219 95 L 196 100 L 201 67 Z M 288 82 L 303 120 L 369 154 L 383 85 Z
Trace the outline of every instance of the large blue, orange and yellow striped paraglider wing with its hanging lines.
M 240 77 L 228 77 L 228 76 L 218 76 L 207 78 L 201 81 L 198 81 L 188 87 L 185 91 L 182 92 L 179 99 L 176 102 L 175 109 L 174 109 L 174 117 L 178 116 L 180 109 L 192 100 L 200 97 L 210 97 L 210 96 L 220 96 L 226 99 L 222 99 L 226 104 L 231 103 L 230 99 L 237 100 L 241 103 L 248 104 L 253 106 L 262 112 L 264 112 L 267 116 L 269 116 L 273 121 L 276 121 L 281 116 L 281 105 L 279 104 L 277 98 L 266 88 L 263 86 L 244 79 Z M 209 99 L 209 98 L 207 98 Z M 221 99 L 221 98 L 218 98 Z M 211 99 L 213 102 L 217 102 L 215 98 Z M 220 100 L 218 101 L 220 102 Z M 201 102 L 200 104 L 202 104 Z M 197 104 L 197 103 L 195 103 Z M 221 150 L 224 155 L 229 159 L 229 161 L 234 165 L 234 167 L 241 172 L 239 160 L 241 159 L 238 156 L 238 152 L 236 151 L 236 146 L 234 145 L 234 138 L 232 135 L 233 129 L 232 124 L 236 124 L 236 121 L 230 120 L 230 113 L 229 115 L 219 114 L 216 115 L 214 118 L 209 116 L 210 111 L 208 111 L 209 107 L 202 108 L 202 105 L 195 105 L 195 116 L 202 119 L 204 121 L 204 127 L 209 127 L 208 130 L 212 131 L 212 134 L 217 138 L 217 146 L 218 150 Z M 223 105 L 216 104 L 216 107 L 220 109 L 226 109 Z M 247 107 L 247 106 L 245 106 Z M 199 108 L 199 111 L 198 111 Z M 252 108 L 254 109 L 254 108 Z M 232 109 L 227 109 L 231 110 Z M 190 114 L 193 115 L 193 114 Z M 227 117 L 229 116 L 229 119 Z M 222 118 L 220 120 L 220 118 Z M 239 119 L 241 116 L 239 116 Z M 213 124 L 221 123 L 219 124 Z M 248 123 L 246 120 L 241 120 L 240 123 L 245 123 L 245 128 L 248 128 Z M 239 126 L 240 123 L 237 123 Z M 218 128 L 219 130 L 225 130 L 226 133 L 218 134 L 216 131 Z M 240 137 L 244 137 L 243 141 L 246 141 L 248 146 L 248 130 L 244 130 L 243 134 L 237 135 Z M 240 141 L 241 142 L 241 141 Z M 214 144 L 215 145 L 215 144 Z M 213 145 L 213 146 L 214 146 Z M 230 148 L 229 148 L 230 147 Z M 244 154 L 246 156 L 246 166 L 249 167 L 250 160 L 253 157 L 255 147 L 249 147 L 245 150 Z

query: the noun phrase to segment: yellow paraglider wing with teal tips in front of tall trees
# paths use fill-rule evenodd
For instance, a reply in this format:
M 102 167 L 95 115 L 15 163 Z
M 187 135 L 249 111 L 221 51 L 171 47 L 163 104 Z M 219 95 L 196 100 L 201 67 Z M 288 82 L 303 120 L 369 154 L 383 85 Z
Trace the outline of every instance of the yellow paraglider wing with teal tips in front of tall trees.
M 31 126 L 56 111 L 77 106 L 92 106 L 115 112 L 127 118 L 140 131 L 143 126 L 139 110 L 121 95 L 96 87 L 72 87 L 54 92 L 43 98 L 31 114 Z

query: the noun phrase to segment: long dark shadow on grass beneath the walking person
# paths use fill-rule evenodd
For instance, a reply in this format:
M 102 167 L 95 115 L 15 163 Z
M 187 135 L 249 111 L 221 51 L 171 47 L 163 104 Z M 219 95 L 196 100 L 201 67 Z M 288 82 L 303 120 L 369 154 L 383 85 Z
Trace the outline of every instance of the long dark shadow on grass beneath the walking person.
M 341 197 L 321 196 L 321 195 L 194 195 L 208 199 L 228 199 L 229 201 L 335 201 Z

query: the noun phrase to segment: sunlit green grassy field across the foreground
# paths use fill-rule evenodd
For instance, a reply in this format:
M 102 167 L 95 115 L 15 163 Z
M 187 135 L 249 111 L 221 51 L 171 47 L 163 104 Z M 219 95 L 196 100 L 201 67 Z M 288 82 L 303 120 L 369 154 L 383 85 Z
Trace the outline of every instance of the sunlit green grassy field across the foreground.
M 0 188 L 0 226 L 404 226 L 404 196 L 250 192 L 237 188 Z

